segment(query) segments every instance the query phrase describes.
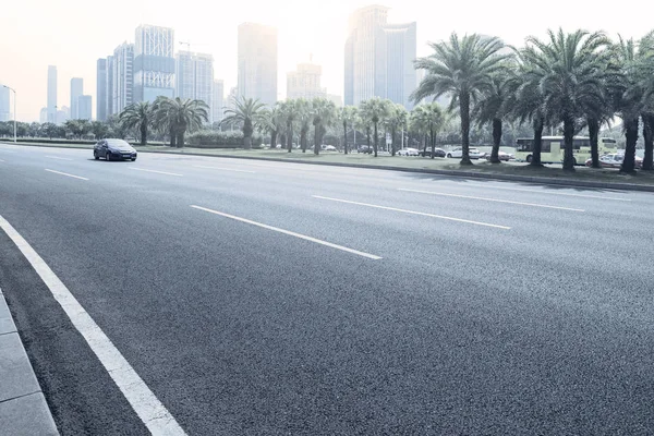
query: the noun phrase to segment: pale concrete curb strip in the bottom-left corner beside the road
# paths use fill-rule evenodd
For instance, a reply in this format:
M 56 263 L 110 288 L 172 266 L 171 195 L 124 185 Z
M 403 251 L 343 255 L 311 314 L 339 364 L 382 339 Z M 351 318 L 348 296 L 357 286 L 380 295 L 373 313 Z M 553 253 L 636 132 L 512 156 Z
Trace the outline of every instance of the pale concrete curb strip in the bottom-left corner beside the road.
M 0 290 L 0 433 L 59 435 Z

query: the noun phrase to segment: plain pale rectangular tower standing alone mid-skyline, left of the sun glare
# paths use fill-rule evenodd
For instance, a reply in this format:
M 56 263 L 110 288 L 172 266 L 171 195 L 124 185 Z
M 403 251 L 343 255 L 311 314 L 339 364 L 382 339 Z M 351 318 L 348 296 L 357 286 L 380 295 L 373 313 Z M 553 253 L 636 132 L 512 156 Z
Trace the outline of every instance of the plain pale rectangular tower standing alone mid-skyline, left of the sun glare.
M 277 101 L 277 29 L 256 23 L 239 25 L 240 97 L 266 105 Z

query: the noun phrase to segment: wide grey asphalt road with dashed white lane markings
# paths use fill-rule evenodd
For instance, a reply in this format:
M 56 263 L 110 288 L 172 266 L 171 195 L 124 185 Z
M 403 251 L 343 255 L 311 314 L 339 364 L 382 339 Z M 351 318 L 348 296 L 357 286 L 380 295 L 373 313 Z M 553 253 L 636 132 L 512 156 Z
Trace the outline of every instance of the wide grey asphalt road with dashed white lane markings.
M 190 435 L 654 433 L 654 194 L 0 145 L 0 215 Z M 62 434 L 147 433 L 0 288 Z

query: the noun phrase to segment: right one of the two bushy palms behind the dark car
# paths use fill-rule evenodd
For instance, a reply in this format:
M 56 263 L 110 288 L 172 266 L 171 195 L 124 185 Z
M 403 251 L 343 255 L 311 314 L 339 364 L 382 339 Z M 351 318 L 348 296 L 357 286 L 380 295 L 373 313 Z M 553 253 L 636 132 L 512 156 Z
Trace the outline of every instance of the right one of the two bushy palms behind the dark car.
M 178 147 L 184 146 L 186 131 L 198 130 L 209 121 L 209 106 L 202 100 L 162 97 L 156 100 L 156 108 L 155 118 L 170 128 Z

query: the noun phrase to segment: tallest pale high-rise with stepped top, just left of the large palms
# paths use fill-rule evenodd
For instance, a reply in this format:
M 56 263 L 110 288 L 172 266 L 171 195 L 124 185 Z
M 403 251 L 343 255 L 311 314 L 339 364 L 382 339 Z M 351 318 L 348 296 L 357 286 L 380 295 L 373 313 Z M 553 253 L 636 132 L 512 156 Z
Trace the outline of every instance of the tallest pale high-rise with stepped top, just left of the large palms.
M 350 15 L 344 47 L 344 100 L 359 105 L 372 97 L 411 108 L 415 89 L 416 25 L 387 24 L 388 8 L 371 5 Z

